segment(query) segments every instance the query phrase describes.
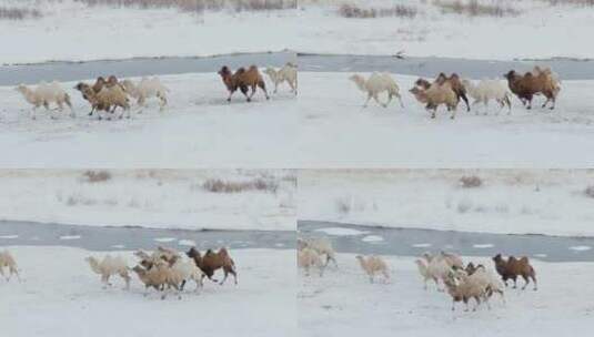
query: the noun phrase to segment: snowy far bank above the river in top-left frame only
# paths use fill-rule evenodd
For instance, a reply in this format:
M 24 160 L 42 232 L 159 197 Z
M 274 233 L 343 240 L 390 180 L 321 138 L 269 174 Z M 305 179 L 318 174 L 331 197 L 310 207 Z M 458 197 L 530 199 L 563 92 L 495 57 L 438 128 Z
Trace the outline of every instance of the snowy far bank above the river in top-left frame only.
M 36 8 L 37 20 L 0 20 L 0 64 L 141 57 L 195 57 L 291 48 L 295 10 L 205 12 L 87 7 L 73 0 L 2 0 Z M 275 29 L 270 29 L 274 27 Z

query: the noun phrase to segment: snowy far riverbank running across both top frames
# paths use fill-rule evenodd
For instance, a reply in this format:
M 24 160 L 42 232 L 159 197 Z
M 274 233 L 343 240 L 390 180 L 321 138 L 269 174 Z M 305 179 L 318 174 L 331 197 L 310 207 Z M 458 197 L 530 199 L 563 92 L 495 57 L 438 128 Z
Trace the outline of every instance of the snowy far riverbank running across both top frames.
M 346 2 L 377 10 L 406 6 L 415 9 L 416 16 L 346 19 L 338 14 L 339 6 Z M 402 51 L 417 57 L 499 60 L 594 57 L 591 43 L 581 43 L 590 40 L 594 9 L 550 6 L 541 0 L 481 0 L 520 12 L 503 18 L 444 13 L 433 1 L 407 0 L 302 1 L 299 10 L 203 14 L 174 9 L 88 8 L 73 0 L 0 3 L 36 8 L 43 14 L 34 20 L 0 20 L 4 32 L 0 45 L 11 45 L 1 53 L 0 64 L 285 49 L 350 54 Z M 100 33 L 90 33 L 98 29 Z

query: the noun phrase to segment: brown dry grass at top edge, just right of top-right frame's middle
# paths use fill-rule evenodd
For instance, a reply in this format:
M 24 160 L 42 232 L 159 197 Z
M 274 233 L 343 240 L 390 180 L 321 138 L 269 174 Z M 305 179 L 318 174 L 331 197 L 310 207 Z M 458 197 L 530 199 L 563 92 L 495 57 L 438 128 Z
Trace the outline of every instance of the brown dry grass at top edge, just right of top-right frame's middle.
M 504 6 L 502 3 L 481 3 L 479 0 L 434 0 L 433 4 L 439 7 L 443 13 L 456 13 L 466 17 L 517 17 L 522 12 L 519 9 Z

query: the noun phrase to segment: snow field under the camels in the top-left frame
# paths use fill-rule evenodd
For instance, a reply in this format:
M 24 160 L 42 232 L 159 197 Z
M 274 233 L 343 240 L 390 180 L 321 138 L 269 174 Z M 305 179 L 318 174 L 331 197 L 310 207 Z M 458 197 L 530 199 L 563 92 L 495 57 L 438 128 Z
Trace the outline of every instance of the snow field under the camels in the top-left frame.
M 258 92 L 248 103 L 236 92 L 229 103 L 215 71 L 160 76 L 170 89 L 169 108 L 160 112 L 152 99 L 139 114 L 134 103 L 130 120 L 88 116 L 91 108 L 73 89 L 75 82 L 61 83 L 75 119 L 64 109 L 51 120 L 41 108 L 32 120 L 32 105 L 13 86 L 0 88 L 0 166 L 294 167 L 295 95 L 283 86 L 270 101 Z

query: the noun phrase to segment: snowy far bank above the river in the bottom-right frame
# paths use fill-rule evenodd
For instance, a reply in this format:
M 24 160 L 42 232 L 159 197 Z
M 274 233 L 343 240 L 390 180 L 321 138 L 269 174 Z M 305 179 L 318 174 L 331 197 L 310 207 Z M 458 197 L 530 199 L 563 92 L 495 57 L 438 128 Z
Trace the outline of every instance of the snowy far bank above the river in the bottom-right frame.
M 462 176 L 483 185 L 462 187 Z M 594 236 L 593 171 L 301 171 L 300 219 L 485 233 Z

